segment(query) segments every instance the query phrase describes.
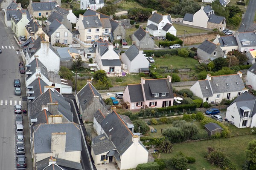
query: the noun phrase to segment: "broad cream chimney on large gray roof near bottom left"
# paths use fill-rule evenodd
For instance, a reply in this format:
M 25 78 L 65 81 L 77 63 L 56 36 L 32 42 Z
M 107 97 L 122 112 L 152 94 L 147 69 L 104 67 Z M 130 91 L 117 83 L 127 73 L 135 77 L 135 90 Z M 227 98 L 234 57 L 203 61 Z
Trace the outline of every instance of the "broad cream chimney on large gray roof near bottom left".
M 58 140 L 58 144 L 56 141 Z M 52 133 L 51 138 L 52 153 L 64 153 L 66 151 L 66 132 Z

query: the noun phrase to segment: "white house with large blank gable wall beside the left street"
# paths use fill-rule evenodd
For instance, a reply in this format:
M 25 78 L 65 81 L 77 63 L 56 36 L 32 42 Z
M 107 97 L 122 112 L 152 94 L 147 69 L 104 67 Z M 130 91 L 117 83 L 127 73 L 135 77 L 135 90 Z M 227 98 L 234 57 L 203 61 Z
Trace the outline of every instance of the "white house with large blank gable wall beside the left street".
M 30 37 L 22 46 L 25 56 L 25 64 L 32 62 L 35 58 L 38 58 L 44 66 L 46 66 L 48 71 L 59 71 L 60 57 L 44 37 L 40 36 L 36 40 Z

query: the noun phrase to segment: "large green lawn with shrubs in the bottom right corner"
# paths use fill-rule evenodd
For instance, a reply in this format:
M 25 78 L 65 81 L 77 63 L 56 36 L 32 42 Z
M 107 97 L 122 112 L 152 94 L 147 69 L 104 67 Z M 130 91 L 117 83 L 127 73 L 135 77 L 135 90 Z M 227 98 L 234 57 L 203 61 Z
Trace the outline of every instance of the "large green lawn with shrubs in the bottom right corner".
M 204 158 L 204 156 L 207 155 L 207 147 L 215 147 L 215 149 L 219 148 L 227 155 L 230 155 L 229 159 L 239 167 L 238 169 L 241 169 L 242 164 L 245 161 L 244 150 L 246 149 L 248 142 L 255 138 L 255 135 L 246 135 L 228 139 L 174 144 L 173 153 L 161 153 L 160 158 L 168 159 L 181 151 L 186 156 L 192 156 L 196 159 L 194 164 L 189 164 L 190 170 L 203 170 L 203 168 L 205 168 L 205 170 L 220 170 L 218 167 L 212 166 Z

